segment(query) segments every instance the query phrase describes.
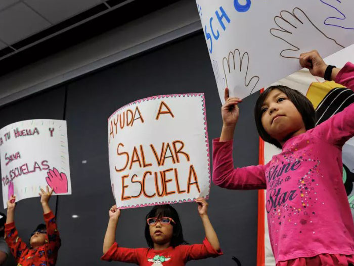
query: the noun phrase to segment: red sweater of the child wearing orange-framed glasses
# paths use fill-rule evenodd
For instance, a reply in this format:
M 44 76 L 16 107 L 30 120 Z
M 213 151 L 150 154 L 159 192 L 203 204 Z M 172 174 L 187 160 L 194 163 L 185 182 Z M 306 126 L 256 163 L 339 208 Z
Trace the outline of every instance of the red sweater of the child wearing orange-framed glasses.
M 184 266 L 193 259 L 203 259 L 222 255 L 221 250 L 214 250 L 205 238 L 203 244 L 179 245 L 164 250 L 151 248 L 123 248 L 114 243 L 102 256 L 102 260 L 117 260 L 122 262 L 136 263 L 140 266 Z

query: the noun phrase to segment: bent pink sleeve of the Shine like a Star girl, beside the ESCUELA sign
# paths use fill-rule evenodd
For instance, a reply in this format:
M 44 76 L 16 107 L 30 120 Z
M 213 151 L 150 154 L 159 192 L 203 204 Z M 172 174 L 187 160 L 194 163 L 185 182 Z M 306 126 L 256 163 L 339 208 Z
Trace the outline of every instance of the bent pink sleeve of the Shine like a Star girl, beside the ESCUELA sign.
M 234 168 L 232 158 L 233 141 L 213 140 L 212 180 L 215 185 L 229 189 L 265 189 L 264 166 Z

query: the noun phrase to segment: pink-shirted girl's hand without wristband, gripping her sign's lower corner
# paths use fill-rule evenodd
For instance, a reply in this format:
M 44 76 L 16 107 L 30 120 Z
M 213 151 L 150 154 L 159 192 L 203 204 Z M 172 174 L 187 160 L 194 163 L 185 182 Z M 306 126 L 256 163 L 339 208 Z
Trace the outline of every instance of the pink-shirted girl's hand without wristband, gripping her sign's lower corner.
M 238 103 L 242 102 L 242 99 L 229 97 L 229 89 L 225 89 L 225 103 L 222 107 L 222 117 L 224 126 L 235 126 L 238 119 L 240 110 Z

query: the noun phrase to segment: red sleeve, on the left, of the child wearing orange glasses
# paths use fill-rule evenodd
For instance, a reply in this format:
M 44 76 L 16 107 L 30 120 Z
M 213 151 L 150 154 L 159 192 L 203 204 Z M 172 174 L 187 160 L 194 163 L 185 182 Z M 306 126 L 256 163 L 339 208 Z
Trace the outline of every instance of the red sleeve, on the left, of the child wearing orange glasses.
M 110 249 L 101 257 L 102 260 L 107 261 L 122 261 L 129 263 L 139 264 L 141 257 L 147 252 L 146 248 L 123 248 L 118 247 L 117 242 L 115 242 Z

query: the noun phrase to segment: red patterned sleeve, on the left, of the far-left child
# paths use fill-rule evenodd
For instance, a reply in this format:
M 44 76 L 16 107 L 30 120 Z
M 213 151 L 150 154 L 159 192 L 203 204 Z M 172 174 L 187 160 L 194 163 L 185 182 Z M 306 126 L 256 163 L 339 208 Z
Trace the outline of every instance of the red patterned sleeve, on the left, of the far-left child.
M 18 232 L 15 227 L 15 223 L 6 223 L 5 224 L 5 241 L 8 243 L 12 255 L 19 261 L 21 256 L 28 253 L 29 249 L 27 245 L 22 241 L 18 236 Z

